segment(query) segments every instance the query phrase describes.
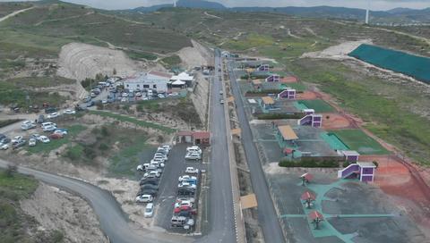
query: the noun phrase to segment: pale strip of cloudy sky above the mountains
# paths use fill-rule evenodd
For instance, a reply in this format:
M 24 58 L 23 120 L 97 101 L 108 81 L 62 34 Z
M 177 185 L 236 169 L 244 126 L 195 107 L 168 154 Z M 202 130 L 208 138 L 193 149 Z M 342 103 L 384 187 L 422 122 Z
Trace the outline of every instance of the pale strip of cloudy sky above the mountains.
M 8 2 L 11 0 L 0 0 Z M 21 0 L 18 0 L 21 1 Z M 74 4 L 85 4 L 102 9 L 128 9 L 140 6 L 151 6 L 155 4 L 173 3 L 173 0 L 64 0 Z M 236 6 L 344 6 L 355 8 L 366 8 L 367 2 L 371 2 L 372 10 L 389 10 L 396 7 L 408 7 L 422 9 L 430 7 L 430 0 L 210 0 L 228 7 Z

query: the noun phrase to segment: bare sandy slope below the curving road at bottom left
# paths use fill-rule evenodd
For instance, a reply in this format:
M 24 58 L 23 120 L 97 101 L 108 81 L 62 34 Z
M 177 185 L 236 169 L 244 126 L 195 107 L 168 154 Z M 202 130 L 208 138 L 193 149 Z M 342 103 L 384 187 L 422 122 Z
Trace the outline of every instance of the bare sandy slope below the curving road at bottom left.
M 92 208 L 81 197 L 40 183 L 21 206 L 40 223 L 39 230 L 64 231 L 64 242 L 107 242 Z

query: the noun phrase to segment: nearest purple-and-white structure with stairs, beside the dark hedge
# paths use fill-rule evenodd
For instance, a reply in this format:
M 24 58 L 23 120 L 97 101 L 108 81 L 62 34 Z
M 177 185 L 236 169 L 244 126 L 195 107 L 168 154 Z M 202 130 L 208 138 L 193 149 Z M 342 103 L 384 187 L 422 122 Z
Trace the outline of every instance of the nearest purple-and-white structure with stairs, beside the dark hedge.
M 338 178 L 359 178 L 360 181 L 374 181 L 376 165 L 372 162 L 351 163 L 347 168 L 338 172 Z

